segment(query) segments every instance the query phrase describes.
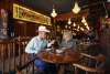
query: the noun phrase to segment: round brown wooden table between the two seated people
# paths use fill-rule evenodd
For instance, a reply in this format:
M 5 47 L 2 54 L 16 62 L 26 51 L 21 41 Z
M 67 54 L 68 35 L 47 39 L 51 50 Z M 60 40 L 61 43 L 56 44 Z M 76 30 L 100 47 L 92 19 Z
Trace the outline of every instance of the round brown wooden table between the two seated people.
M 61 65 L 57 74 L 63 74 L 65 64 L 77 63 L 80 54 L 72 50 L 66 50 L 63 53 L 44 51 L 38 54 L 38 57 L 45 62 Z

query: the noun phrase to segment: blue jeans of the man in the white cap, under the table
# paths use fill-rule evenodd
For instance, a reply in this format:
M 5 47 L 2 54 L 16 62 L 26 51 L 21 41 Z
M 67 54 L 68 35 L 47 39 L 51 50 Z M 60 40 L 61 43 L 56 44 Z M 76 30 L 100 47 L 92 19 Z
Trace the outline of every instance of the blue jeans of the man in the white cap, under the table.
M 35 54 L 32 54 L 31 56 L 32 56 L 32 59 L 36 57 Z M 55 64 L 46 63 L 46 62 L 42 61 L 38 57 L 36 57 L 36 60 L 34 61 L 34 65 L 38 70 L 41 70 L 42 72 L 44 72 L 45 74 L 56 74 L 56 72 L 57 72 Z

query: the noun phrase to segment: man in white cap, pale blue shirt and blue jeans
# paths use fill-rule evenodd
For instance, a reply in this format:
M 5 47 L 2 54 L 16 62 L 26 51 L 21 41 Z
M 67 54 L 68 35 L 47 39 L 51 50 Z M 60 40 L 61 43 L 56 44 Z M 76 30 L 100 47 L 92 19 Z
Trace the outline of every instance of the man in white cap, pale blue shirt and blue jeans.
M 52 41 L 51 43 L 47 43 L 46 41 L 46 33 L 50 32 L 46 27 L 44 25 L 40 25 L 38 27 L 38 35 L 34 36 L 29 44 L 25 47 L 25 52 L 26 53 L 31 53 L 32 54 L 32 59 L 34 59 L 38 52 L 43 51 L 45 47 L 47 47 L 47 45 L 51 45 L 54 43 L 54 41 Z M 35 60 L 35 66 L 40 70 L 40 71 L 44 71 L 46 67 L 46 63 L 40 59 Z

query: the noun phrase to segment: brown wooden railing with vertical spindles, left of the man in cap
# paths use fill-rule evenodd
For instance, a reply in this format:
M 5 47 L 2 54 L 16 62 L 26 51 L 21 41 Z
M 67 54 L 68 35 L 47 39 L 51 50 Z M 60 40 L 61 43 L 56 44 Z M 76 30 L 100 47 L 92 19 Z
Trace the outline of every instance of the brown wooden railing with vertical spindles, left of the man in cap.
M 29 62 L 24 49 L 30 39 L 29 36 L 18 36 L 10 40 L 0 40 L 0 74 L 15 72 L 16 65 Z

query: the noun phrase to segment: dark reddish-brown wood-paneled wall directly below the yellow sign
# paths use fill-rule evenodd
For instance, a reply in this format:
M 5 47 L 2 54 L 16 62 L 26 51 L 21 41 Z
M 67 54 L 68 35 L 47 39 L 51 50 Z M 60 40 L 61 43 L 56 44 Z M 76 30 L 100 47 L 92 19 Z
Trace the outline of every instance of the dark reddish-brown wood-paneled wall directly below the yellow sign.
M 15 36 L 34 36 L 40 24 L 14 20 Z

